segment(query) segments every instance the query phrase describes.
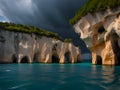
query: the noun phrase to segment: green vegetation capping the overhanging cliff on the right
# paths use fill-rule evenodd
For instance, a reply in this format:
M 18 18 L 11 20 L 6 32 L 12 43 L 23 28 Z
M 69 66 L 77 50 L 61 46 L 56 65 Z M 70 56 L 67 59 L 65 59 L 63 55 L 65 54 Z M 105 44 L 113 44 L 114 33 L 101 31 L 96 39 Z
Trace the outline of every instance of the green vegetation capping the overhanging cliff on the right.
M 120 6 L 120 0 L 88 0 L 87 3 L 75 13 L 75 16 L 69 21 L 69 23 L 74 25 L 87 13 L 104 11 L 107 8 L 114 8 L 118 6 Z

